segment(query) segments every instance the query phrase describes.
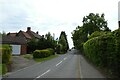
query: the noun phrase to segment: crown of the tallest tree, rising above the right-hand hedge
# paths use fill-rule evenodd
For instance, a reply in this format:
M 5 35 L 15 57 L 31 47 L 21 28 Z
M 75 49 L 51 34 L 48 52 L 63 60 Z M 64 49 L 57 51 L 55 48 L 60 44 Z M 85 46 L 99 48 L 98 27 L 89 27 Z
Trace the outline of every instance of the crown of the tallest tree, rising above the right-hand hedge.
M 110 31 L 104 16 L 104 14 L 90 13 L 88 16 L 83 17 L 82 22 L 86 33 L 92 34 L 94 31 Z

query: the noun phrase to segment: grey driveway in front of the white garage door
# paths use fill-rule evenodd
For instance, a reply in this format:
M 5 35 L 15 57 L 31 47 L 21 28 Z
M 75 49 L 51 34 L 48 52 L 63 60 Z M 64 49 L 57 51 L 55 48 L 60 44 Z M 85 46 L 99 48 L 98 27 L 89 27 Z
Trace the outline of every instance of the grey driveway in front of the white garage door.
M 33 59 L 26 59 L 22 56 L 12 56 L 12 72 L 31 66 L 36 62 Z

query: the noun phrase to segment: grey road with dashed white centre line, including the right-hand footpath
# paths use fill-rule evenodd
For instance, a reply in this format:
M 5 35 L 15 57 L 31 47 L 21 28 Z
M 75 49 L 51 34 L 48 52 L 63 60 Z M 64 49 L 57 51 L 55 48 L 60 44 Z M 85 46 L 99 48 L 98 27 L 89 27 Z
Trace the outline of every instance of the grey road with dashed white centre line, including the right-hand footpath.
M 104 78 L 77 50 L 10 73 L 7 78 Z

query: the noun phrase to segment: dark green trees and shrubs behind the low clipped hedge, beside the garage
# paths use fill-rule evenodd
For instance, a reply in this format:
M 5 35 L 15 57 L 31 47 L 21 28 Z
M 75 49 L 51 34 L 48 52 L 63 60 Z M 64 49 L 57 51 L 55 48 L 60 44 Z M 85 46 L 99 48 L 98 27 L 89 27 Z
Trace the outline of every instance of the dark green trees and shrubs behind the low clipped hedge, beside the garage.
M 32 39 L 28 42 L 28 53 L 32 53 L 35 50 L 42 50 L 47 48 L 52 48 L 55 50 L 57 42 L 51 36 L 50 33 L 46 34 L 45 37 L 40 39 Z

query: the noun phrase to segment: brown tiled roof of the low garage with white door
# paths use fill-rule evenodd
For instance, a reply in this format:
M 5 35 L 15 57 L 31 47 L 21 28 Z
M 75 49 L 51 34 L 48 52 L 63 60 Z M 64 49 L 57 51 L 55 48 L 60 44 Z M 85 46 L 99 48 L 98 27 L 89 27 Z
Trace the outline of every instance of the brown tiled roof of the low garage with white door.
M 27 44 L 27 41 L 25 38 L 21 36 L 11 37 L 11 36 L 3 36 L 2 41 L 0 41 L 2 44 Z

